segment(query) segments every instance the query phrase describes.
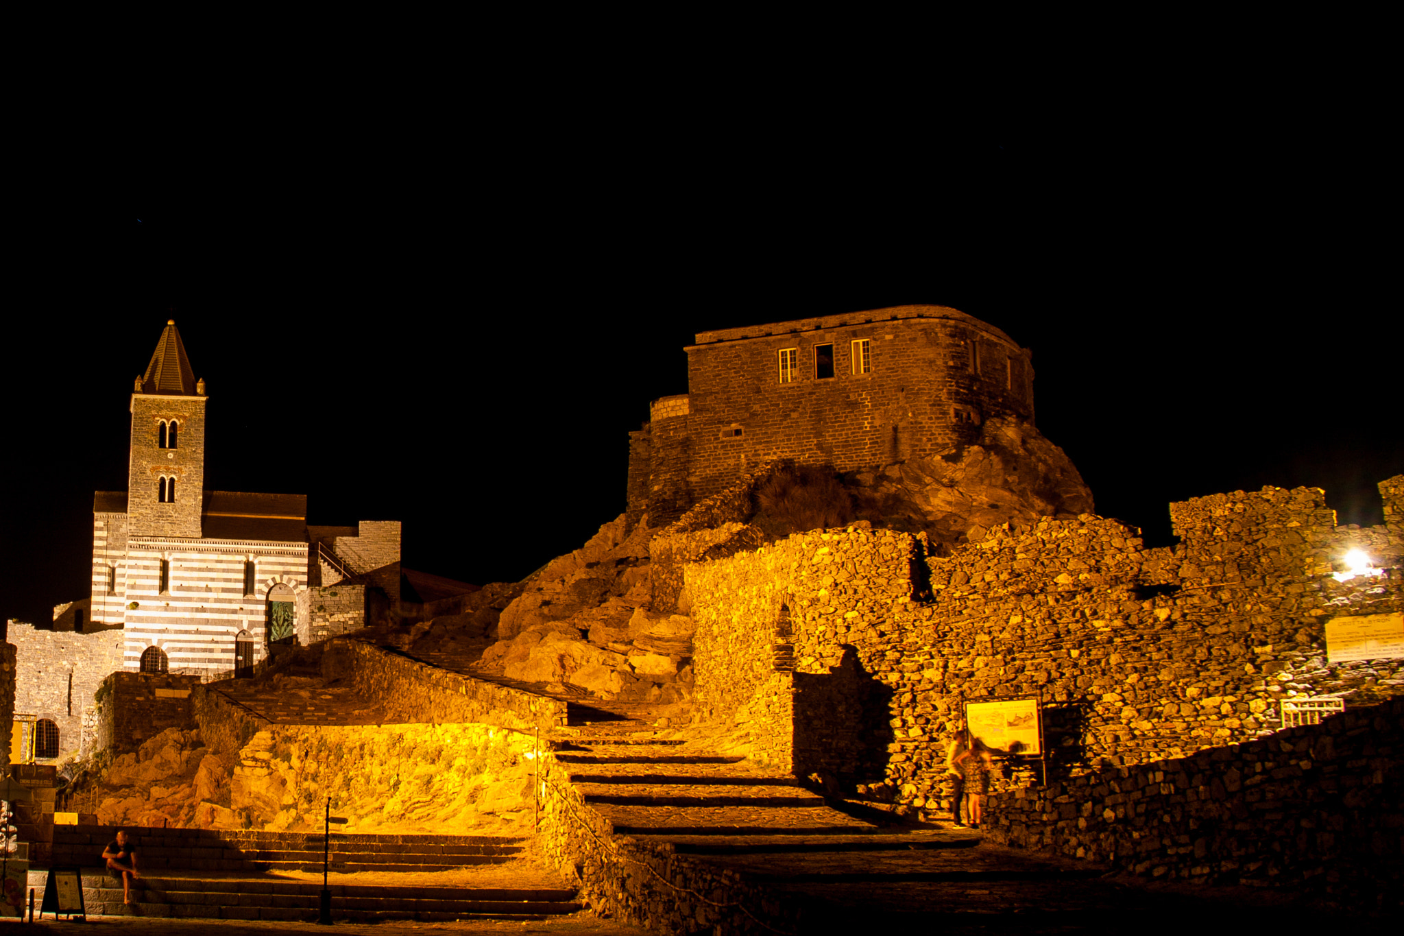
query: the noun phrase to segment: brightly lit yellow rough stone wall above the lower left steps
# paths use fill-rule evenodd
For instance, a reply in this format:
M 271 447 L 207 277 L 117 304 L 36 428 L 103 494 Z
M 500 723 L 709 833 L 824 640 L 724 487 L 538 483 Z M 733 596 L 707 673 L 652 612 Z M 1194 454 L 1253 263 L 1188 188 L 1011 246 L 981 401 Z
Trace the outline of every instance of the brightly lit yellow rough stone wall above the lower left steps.
M 256 828 L 320 829 L 327 798 L 343 832 L 529 832 L 532 734 L 486 724 L 270 726 L 249 740 L 230 811 Z

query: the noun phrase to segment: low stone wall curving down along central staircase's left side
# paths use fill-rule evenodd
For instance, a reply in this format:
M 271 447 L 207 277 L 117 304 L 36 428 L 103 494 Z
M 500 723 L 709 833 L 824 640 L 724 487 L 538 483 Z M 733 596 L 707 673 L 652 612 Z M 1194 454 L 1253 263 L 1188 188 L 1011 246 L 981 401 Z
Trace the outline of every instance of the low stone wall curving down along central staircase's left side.
M 731 869 L 678 855 L 668 842 L 616 836 L 570 784 L 567 765 L 548 754 L 543 768 L 542 849 L 578 880 L 595 914 L 658 933 L 824 932 L 802 918 L 797 901 Z

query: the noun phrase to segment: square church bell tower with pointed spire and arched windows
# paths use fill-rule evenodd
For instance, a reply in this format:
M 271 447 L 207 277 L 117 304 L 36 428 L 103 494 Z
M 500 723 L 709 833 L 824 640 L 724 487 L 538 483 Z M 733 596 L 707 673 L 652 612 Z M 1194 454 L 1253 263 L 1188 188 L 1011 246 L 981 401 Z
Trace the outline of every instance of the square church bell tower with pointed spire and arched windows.
M 205 493 L 205 382 L 195 380 L 174 321 L 166 323 L 132 389 L 129 536 L 201 536 Z

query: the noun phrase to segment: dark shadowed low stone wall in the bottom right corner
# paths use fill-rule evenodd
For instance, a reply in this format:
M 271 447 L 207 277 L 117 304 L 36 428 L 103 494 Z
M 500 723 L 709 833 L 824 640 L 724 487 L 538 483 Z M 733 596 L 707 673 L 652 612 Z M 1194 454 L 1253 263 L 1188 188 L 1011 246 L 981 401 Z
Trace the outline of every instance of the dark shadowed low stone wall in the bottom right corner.
M 981 831 L 1136 874 L 1397 907 L 1401 735 L 1404 700 L 1352 709 L 1250 744 L 1001 793 Z

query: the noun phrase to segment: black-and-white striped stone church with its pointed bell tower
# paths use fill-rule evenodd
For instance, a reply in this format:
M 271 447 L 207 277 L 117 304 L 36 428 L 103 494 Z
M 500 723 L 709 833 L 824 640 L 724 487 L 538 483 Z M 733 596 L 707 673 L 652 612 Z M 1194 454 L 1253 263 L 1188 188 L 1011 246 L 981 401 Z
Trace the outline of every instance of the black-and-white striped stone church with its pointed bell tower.
M 110 672 L 251 674 L 282 643 L 364 627 L 400 601 L 397 521 L 309 526 L 303 494 L 205 490 L 208 401 L 167 321 L 132 387 L 126 490 L 94 495 L 90 595 L 59 605 L 52 630 L 10 624 L 15 717 L 32 721 L 13 758 L 77 749 Z

